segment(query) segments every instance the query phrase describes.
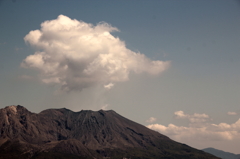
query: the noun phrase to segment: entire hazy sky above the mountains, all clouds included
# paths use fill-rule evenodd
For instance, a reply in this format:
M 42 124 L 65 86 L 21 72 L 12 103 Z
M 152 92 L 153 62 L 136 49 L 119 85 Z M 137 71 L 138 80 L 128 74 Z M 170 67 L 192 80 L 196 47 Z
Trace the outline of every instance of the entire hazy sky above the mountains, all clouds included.
M 113 109 L 240 153 L 240 2 L 0 0 L 0 108 Z

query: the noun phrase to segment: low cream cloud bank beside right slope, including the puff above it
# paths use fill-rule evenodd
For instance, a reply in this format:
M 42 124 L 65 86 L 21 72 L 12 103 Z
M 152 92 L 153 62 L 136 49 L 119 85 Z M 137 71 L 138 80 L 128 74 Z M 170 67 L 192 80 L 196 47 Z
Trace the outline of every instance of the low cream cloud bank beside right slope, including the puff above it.
M 189 115 L 185 114 L 183 111 L 178 111 L 175 112 L 175 115 L 179 117 L 178 119 L 189 118 L 189 126 L 177 126 L 174 124 L 164 126 L 161 124 L 151 124 L 147 127 L 183 143 L 187 143 L 188 141 L 203 142 L 240 140 L 240 119 L 233 124 L 212 124 L 205 120 L 209 118 L 206 114 Z M 196 127 L 191 124 L 193 121 L 201 122 L 202 124 L 200 127 Z

